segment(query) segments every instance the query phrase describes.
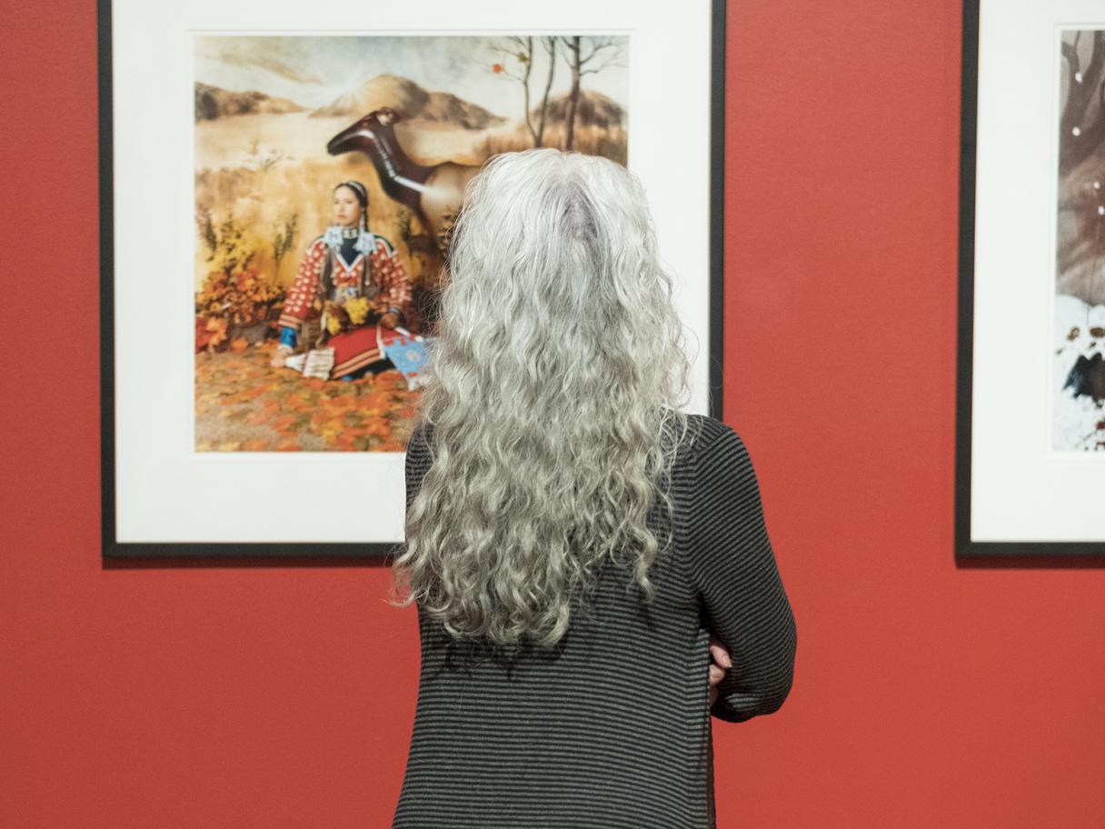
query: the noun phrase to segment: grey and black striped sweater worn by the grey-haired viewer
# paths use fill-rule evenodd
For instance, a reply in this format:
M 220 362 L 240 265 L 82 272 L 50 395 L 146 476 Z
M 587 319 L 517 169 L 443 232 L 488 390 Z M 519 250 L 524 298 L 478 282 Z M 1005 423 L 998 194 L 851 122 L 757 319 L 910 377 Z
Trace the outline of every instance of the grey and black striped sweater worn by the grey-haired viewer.
M 673 470 L 674 554 L 653 568 L 652 607 L 627 594 L 628 570 L 610 569 L 593 612 L 573 618 L 555 650 L 524 646 L 513 661 L 459 644 L 419 613 L 418 705 L 393 829 L 716 826 L 713 718 L 776 711 L 797 638 L 748 451 L 725 423 L 692 417 L 702 432 Z M 407 450 L 408 506 L 430 465 L 420 434 Z M 713 710 L 711 631 L 733 658 Z

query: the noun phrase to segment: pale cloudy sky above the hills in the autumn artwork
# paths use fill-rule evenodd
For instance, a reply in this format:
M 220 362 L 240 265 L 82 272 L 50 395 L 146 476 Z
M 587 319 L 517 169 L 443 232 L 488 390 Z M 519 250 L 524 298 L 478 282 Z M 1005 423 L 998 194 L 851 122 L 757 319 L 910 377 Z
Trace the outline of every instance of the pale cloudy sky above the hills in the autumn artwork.
M 497 115 L 518 117 L 522 84 L 495 74 L 504 62 L 497 36 L 318 36 L 197 35 L 196 81 L 232 92 L 259 91 L 291 98 L 307 107 L 323 106 L 376 75 L 408 77 L 429 92 L 451 92 Z M 629 84 L 629 39 L 620 38 L 619 65 L 586 74 L 585 90 L 594 90 L 625 105 Z M 535 38 L 536 41 L 536 38 Z M 548 60 L 538 49 L 533 95 L 544 88 Z M 507 56 L 507 65 L 518 69 Z M 537 80 L 539 78 L 539 80 Z M 552 95 L 568 91 L 567 64 L 558 61 Z

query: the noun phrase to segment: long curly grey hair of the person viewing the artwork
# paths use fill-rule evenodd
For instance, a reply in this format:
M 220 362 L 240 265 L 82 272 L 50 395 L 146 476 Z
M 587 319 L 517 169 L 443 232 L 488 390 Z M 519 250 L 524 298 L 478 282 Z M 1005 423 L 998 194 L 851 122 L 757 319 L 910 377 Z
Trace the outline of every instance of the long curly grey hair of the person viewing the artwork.
M 607 563 L 649 577 L 672 541 L 670 473 L 693 431 L 690 363 L 644 190 L 601 157 L 493 157 L 453 229 L 433 370 L 432 463 L 392 601 L 457 639 L 555 646 Z M 646 524 L 654 503 L 667 532 Z M 625 556 L 623 559 L 622 556 Z

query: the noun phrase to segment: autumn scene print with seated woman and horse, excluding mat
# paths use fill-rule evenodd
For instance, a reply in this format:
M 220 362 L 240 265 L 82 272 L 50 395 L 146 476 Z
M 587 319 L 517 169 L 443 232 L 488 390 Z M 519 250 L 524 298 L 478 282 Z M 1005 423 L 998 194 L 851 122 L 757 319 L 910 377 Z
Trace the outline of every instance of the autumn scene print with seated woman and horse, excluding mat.
M 532 147 L 628 160 L 625 36 L 196 34 L 192 56 L 201 453 L 403 451 L 465 183 Z

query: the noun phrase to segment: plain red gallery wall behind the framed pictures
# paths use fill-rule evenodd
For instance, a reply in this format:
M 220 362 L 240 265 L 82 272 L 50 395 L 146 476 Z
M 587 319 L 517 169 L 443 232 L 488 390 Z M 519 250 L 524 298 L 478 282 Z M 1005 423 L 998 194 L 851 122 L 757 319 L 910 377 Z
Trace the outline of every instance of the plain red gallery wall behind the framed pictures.
M 0 825 L 386 826 L 387 569 L 101 564 L 95 9 L 2 8 Z M 722 827 L 1105 823 L 1105 569 L 951 554 L 959 29 L 730 3 L 725 409 L 800 643 L 716 724 Z

